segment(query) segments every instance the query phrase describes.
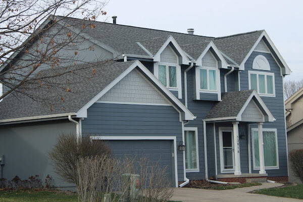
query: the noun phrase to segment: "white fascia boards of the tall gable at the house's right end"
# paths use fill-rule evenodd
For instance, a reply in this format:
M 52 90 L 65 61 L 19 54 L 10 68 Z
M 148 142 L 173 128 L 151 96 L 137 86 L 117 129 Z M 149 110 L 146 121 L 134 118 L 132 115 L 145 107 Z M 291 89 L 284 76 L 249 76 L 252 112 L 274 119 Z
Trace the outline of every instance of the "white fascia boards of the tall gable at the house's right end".
M 279 60 L 281 61 L 281 63 L 283 64 L 284 68 L 285 68 L 285 73 L 286 75 L 289 75 L 291 73 L 290 68 L 288 67 L 288 65 L 286 64 L 285 60 L 282 58 L 281 54 L 279 53 L 277 47 L 275 46 L 275 44 L 273 43 L 273 41 L 271 40 L 271 38 L 269 37 L 269 35 L 267 34 L 267 32 L 264 30 L 262 32 L 262 34 L 259 36 L 259 38 L 257 39 L 257 41 L 255 42 L 255 44 L 251 47 L 250 51 L 248 52 L 248 54 L 245 56 L 244 60 L 242 61 L 242 63 L 240 64 L 240 68 L 239 70 L 244 70 L 244 65 L 245 62 L 247 61 L 247 59 L 249 58 L 249 56 L 251 55 L 251 53 L 255 50 L 256 46 L 258 45 L 258 43 L 262 40 L 263 36 L 267 39 L 267 41 L 269 42 L 269 44 L 271 45 L 271 47 L 273 48 L 275 54 L 278 56 Z M 274 57 L 273 57 L 274 58 Z M 279 65 L 279 64 L 278 64 Z M 280 66 L 280 65 L 279 65 Z M 281 71 L 282 72 L 282 71 Z

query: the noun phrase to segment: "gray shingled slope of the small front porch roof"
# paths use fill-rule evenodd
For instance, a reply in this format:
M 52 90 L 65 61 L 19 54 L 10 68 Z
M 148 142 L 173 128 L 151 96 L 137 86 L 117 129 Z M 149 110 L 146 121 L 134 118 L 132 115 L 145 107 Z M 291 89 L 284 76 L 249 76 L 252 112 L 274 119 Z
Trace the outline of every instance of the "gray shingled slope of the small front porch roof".
M 214 104 L 205 119 L 236 117 L 254 90 L 225 92 L 222 101 Z

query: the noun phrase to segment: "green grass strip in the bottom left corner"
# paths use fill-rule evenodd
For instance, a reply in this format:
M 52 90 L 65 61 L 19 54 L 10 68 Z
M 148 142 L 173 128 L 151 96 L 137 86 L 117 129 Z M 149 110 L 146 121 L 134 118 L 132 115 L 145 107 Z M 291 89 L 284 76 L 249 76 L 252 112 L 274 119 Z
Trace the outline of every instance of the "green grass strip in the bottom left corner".
M 59 191 L 0 191 L 0 202 L 78 202 L 77 194 Z M 177 201 L 169 201 L 177 202 Z M 180 202 L 180 201 L 179 201 Z

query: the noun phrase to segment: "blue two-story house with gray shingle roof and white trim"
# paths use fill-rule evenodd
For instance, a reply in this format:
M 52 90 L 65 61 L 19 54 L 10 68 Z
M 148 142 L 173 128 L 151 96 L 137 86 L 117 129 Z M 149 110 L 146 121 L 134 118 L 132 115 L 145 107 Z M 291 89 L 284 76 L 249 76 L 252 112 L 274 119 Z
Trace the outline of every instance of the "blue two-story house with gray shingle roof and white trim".
M 82 22 L 69 20 L 77 33 Z M 81 34 L 98 47 L 95 55 L 111 59 L 75 66 L 82 75 L 94 68 L 91 81 L 55 77 L 69 79 L 73 91 L 64 102 L 54 98 L 52 111 L 23 95 L 0 103 L 5 178 L 51 174 L 57 186 L 70 186 L 47 153 L 58 135 L 74 133 L 108 140 L 116 156 L 166 166 L 176 186 L 206 178 L 287 181 L 283 78 L 290 69 L 265 30 L 214 38 L 95 24 Z

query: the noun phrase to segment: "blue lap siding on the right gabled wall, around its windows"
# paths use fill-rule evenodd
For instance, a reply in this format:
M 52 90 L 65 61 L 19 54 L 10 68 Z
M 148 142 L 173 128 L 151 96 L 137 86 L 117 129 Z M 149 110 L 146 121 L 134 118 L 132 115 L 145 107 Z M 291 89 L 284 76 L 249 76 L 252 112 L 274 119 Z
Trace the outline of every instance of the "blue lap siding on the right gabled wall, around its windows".
M 279 170 L 266 170 L 270 177 L 274 176 L 287 176 L 287 150 L 286 150 L 286 134 L 285 134 L 285 121 L 284 121 L 284 98 L 283 98 L 283 81 L 280 74 L 280 67 L 275 62 L 271 54 L 252 52 L 250 57 L 245 63 L 245 70 L 240 72 L 240 86 L 241 90 L 248 89 L 248 71 L 262 71 L 252 69 L 252 62 L 258 55 L 263 55 L 267 58 L 270 64 L 270 72 L 275 74 L 275 97 L 262 96 L 262 100 L 268 107 L 272 115 L 276 118 L 276 121 L 272 123 L 264 123 L 264 128 L 276 128 L 278 135 L 278 154 L 279 154 Z M 269 72 L 269 71 L 264 71 Z M 257 128 L 256 124 L 250 124 L 249 132 L 251 128 Z M 252 148 L 252 147 L 251 147 Z M 252 150 L 251 150 L 251 167 L 252 164 Z M 258 173 L 258 170 L 254 170 L 252 167 L 252 173 Z

